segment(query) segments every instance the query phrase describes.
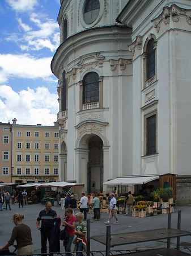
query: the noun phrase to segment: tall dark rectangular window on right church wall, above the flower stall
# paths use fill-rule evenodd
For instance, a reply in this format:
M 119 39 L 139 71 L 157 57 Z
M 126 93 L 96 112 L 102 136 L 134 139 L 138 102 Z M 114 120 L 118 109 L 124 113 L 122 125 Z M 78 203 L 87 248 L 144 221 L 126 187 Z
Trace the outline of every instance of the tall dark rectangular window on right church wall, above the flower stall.
M 156 153 L 156 114 L 146 118 L 146 155 Z

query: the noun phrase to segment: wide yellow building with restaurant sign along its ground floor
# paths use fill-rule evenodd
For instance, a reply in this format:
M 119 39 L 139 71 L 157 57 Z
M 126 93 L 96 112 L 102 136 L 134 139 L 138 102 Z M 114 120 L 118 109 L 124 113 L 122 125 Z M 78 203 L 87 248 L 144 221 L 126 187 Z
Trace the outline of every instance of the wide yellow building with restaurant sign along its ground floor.
M 12 183 L 58 181 L 58 126 L 12 121 Z

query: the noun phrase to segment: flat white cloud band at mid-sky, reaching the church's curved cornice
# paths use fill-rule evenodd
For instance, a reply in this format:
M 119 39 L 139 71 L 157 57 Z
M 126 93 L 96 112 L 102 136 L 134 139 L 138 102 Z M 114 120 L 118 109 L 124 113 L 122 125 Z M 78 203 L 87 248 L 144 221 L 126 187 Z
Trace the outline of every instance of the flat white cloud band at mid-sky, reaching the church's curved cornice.
M 37 59 L 27 53 L 23 55 L 0 54 L 0 84 L 6 82 L 9 77 L 48 80 L 52 76 L 51 60 L 52 57 Z

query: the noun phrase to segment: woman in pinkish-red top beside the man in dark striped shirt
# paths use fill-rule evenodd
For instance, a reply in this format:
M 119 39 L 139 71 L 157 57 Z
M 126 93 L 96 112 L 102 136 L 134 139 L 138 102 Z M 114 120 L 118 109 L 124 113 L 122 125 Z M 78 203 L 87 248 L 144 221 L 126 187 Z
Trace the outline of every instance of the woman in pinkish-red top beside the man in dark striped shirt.
M 65 210 L 66 218 L 64 221 L 62 221 L 62 226 L 67 226 L 66 230 L 69 234 L 69 240 L 67 241 L 65 245 L 65 251 L 67 256 L 71 256 L 71 243 L 74 239 L 74 232 L 75 232 L 75 224 L 77 223 L 76 218 L 73 216 L 73 209 L 67 208 Z

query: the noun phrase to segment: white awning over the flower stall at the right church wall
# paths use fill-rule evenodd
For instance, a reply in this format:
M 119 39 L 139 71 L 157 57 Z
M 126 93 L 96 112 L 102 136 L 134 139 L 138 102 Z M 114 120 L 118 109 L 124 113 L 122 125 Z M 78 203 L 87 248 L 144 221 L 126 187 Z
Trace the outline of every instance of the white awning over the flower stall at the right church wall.
M 113 180 L 104 182 L 104 185 L 141 185 L 148 183 L 152 180 L 159 179 L 159 176 L 131 176 L 131 177 L 118 177 Z

